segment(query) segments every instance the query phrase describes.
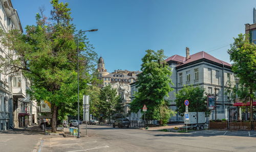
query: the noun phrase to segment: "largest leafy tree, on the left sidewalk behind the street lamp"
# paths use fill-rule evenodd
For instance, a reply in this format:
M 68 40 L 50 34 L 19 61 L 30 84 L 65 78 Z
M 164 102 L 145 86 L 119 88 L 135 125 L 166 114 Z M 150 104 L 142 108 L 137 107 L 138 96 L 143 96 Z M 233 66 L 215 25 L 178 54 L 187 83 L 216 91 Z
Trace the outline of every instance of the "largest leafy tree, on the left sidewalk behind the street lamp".
M 56 132 L 57 115 L 61 118 L 67 113 L 74 114 L 77 109 L 76 63 L 79 62 L 79 98 L 82 99 L 92 80 L 89 72 L 95 66 L 97 55 L 86 36 L 80 35 L 77 60 L 77 36 L 68 4 L 58 0 L 52 0 L 51 4 L 50 20 L 41 10 L 41 15 L 36 14 L 36 25 L 27 26 L 25 34 L 1 30 L 0 42 L 10 50 L 7 60 L 1 64 L 1 72 L 23 72 L 31 82 L 30 96 L 51 103 L 52 132 Z M 81 100 L 80 103 L 82 105 Z

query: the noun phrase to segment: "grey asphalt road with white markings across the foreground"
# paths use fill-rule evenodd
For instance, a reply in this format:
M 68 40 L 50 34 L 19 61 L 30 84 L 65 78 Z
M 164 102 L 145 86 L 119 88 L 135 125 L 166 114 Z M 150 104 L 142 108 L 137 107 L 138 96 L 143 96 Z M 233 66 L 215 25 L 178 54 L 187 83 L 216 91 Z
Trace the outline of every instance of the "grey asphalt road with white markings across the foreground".
M 85 135 L 85 125 L 81 125 Z M 41 151 L 256 151 L 256 132 L 172 133 L 88 125 L 84 138 L 47 138 Z

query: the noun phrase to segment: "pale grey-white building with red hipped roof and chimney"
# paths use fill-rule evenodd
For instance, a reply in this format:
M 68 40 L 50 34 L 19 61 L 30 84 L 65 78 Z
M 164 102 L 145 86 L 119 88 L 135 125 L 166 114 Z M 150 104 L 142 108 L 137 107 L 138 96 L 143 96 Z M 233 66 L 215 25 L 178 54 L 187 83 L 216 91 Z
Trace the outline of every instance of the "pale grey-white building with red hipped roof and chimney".
M 169 100 L 172 100 L 171 108 L 176 110 L 175 94 L 184 85 L 199 86 L 205 89 L 206 93 L 217 94 L 217 119 L 225 118 L 225 108 L 230 105 L 230 83 L 234 84 L 234 74 L 231 71 L 231 64 L 221 61 L 206 52 L 199 52 L 189 55 L 189 48 L 186 47 L 186 57 L 174 55 L 165 60 L 172 69 L 171 79 L 174 83 L 174 91 L 169 93 Z M 215 119 L 215 111 L 212 111 L 209 119 Z M 170 118 L 170 121 L 183 121 L 183 117 L 177 115 Z

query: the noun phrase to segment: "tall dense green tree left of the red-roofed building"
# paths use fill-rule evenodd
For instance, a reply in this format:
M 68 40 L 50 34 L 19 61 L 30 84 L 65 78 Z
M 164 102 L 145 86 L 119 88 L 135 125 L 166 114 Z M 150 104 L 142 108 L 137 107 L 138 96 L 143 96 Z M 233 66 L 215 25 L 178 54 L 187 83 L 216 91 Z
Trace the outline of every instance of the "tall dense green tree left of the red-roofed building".
M 160 120 L 160 124 L 166 123 L 174 112 L 168 108 L 169 101 L 165 99 L 170 91 L 172 72 L 164 60 L 163 49 L 155 52 L 146 50 L 142 58 L 141 73 L 136 82 L 138 92 L 131 102 L 131 112 L 138 112 L 144 105 L 147 107 L 147 120 Z M 144 115 L 143 115 L 144 116 Z

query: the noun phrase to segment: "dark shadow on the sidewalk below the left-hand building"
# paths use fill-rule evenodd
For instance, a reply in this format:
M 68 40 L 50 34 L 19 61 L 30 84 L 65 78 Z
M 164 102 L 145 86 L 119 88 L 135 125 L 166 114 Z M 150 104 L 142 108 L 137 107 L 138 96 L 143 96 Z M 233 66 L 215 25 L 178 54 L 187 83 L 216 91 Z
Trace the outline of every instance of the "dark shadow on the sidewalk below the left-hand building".
M 30 128 L 15 128 L 13 130 L 2 131 L 0 134 L 45 135 L 44 130 L 41 130 L 38 124 L 34 124 Z

